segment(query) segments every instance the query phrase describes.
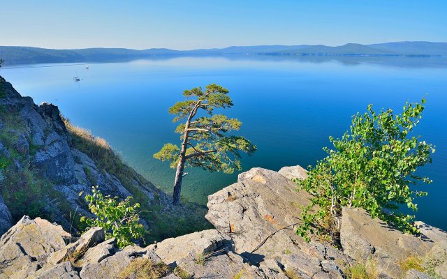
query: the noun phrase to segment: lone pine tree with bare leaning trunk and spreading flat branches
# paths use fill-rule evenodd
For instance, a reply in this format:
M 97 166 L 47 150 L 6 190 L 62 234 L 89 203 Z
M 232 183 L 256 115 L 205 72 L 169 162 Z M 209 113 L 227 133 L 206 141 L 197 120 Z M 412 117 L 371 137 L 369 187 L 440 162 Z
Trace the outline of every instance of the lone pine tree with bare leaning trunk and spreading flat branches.
M 170 167 L 177 168 L 175 173 L 173 204 L 180 202 L 180 191 L 184 176 L 184 167 L 202 167 L 210 172 L 233 173 L 241 169 L 241 154 L 250 156 L 256 146 L 244 137 L 228 135 L 232 130 L 239 130 L 242 122 L 228 119 L 223 114 L 213 114 L 214 109 L 232 107 L 228 89 L 217 84 L 185 90 L 186 100 L 170 107 L 168 112 L 174 114 L 173 122 L 185 120 L 175 129 L 181 134 L 181 146 L 165 144 L 154 158 L 170 161 Z

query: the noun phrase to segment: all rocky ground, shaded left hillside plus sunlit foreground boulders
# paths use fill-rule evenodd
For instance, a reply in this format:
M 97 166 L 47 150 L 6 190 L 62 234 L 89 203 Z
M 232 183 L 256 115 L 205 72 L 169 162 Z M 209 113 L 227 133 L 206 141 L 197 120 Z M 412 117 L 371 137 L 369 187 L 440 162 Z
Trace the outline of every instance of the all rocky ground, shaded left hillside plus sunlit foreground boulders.
M 365 211 L 345 208 L 341 247 L 319 237 L 305 242 L 295 226 L 309 194 L 297 192 L 291 181 L 307 176 L 300 166 L 240 174 L 236 183 L 208 197 L 207 220 L 205 213 L 170 206 L 169 197 L 122 163 L 110 146 L 70 126 L 56 106 L 20 96 L 3 77 L 1 164 L 6 178 L 0 196 L 0 279 L 147 278 L 142 273 L 149 271 L 154 273 L 149 278 L 171 279 L 360 278 L 353 276 L 355 268 L 365 269 L 367 278 L 447 278 L 447 233 L 425 223 L 417 222 L 421 235 L 411 236 Z M 105 195 L 132 195 L 150 209 L 142 223 L 162 241 L 118 249 L 100 227 L 80 238 L 72 235 L 68 213 L 91 214 L 78 194 L 94 185 Z M 29 203 L 34 206 L 25 206 Z M 177 225 L 176 218 L 184 222 Z M 204 229 L 208 224 L 214 229 Z

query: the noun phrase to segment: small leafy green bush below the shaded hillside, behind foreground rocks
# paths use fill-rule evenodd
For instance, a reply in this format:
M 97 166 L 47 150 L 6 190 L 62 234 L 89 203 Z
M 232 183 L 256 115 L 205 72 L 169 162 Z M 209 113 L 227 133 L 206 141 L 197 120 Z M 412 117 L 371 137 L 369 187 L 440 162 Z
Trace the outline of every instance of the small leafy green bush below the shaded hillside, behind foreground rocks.
M 142 239 L 145 228 L 139 223 L 138 209 L 140 204 L 131 204 L 131 198 L 127 197 L 118 202 L 117 197 L 104 196 L 98 186 L 91 188 L 92 195 L 86 195 L 91 213 L 96 218 L 82 216 L 81 221 L 89 227 L 103 227 L 107 238 L 115 237 L 119 248 L 128 246 L 133 240 Z

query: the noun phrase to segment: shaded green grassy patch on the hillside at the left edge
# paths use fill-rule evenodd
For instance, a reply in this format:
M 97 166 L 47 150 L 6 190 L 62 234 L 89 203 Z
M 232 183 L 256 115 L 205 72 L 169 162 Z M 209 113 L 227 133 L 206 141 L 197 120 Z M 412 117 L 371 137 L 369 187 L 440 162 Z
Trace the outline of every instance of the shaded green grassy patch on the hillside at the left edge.
M 3 82 L 5 80 L 0 77 L 0 98 L 5 96 Z M 0 153 L 0 169 L 5 176 L 1 182 L 1 196 L 14 221 L 20 220 L 24 215 L 31 218 L 41 216 L 59 222 L 64 220 L 61 218 L 63 216 L 69 220 L 72 211 L 70 204 L 61 193 L 54 190 L 50 181 L 31 167 L 31 158 L 28 155 L 35 154 L 35 146 L 31 144 L 29 149 L 24 149 L 15 144 L 18 140 L 16 131 L 24 130 L 24 123 L 17 110 L 10 105 L 0 105 L 0 123 L 4 125 L 0 129 L 0 143 L 9 153 L 9 156 Z M 16 160 L 20 162 L 22 169 L 15 166 Z

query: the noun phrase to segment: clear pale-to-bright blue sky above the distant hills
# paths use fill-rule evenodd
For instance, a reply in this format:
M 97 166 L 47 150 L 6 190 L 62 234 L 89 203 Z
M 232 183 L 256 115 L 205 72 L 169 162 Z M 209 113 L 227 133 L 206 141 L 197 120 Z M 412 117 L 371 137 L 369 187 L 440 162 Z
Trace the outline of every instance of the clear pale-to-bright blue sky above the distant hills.
M 0 45 L 49 48 L 447 42 L 447 1 L 7 1 Z

